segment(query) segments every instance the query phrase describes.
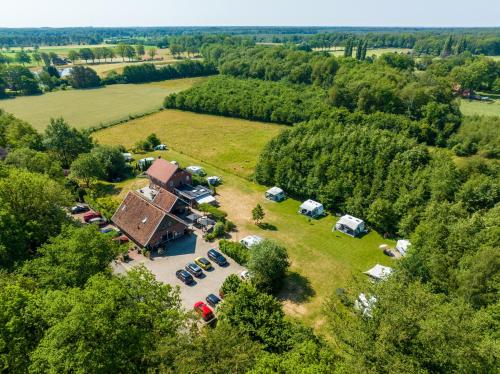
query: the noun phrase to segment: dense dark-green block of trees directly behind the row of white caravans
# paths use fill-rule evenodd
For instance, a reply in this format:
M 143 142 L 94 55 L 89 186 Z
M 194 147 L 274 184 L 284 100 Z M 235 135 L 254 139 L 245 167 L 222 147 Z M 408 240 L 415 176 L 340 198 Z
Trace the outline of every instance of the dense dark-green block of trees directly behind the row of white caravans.
M 413 232 L 432 202 L 456 201 L 475 212 L 500 198 L 494 167 L 464 184 L 469 176 L 444 152 L 430 154 L 404 135 L 351 121 L 324 118 L 285 130 L 262 152 L 257 181 L 402 236 Z M 467 190 L 474 183 L 476 192 Z

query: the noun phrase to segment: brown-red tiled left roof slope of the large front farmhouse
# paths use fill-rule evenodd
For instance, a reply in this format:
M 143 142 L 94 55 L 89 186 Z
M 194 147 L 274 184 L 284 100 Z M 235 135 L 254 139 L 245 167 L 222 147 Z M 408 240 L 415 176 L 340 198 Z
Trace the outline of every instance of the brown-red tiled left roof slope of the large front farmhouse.
M 146 246 L 166 215 L 139 194 L 129 192 L 111 221 L 137 243 Z

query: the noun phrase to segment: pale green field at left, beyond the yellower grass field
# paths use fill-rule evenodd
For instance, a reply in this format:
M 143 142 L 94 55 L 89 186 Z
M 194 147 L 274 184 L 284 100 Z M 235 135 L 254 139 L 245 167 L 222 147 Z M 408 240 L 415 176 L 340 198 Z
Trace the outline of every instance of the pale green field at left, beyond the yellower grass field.
M 51 118 L 57 117 L 63 117 L 71 126 L 88 128 L 160 109 L 165 96 L 190 88 L 203 79 L 206 78 L 49 92 L 0 100 L 0 108 L 40 131 L 47 127 Z

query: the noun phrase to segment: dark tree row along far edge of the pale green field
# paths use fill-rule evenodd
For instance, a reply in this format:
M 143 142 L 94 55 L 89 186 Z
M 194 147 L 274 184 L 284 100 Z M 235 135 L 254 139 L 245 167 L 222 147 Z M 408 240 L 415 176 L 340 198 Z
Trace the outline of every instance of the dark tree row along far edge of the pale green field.
M 214 65 L 200 61 L 182 61 L 172 65 L 157 67 L 154 64 L 125 66 L 122 74 L 111 73 L 104 79 L 107 84 L 142 83 L 168 79 L 203 77 L 217 74 Z

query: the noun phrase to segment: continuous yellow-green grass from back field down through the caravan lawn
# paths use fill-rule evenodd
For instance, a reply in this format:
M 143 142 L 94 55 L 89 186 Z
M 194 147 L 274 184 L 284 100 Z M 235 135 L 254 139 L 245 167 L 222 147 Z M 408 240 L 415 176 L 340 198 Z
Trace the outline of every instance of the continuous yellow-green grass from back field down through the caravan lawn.
M 170 137 L 161 136 L 161 124 L 158 127 L 154 127 L 153 124 L 145 125 L 149 122 L 147 121 L 149 117 L 151 123 L 156 123 L 159 122 L 160 116 L 165 116 L 164 134 L 167 136 L 172 134 Z M 169 116 L 174 119 L 168 119 Z M 233 233 L 232 239 L 239 240 L 248 234 L 258 234 L 277 240 L 288 249 L 291 272 L 280 299 L 289 315 L 301 318 L 310 326 L 319 329 L 323 322 L 323 304 L 336 288 L 347 286 L 353 277 L 366 279 L 361 272 L 376 263 L 390 265 L 393 262 L 384 256 L 378 247 L 382 243 L 389 245 L 394 243 L 384 240 L 376 232 L 370 232 L 362 239 L 334 233 L 332 226 L 336 222 L 336 217 L 308 220 L 297 213 L 299 201 L 294 199 L 288 199 L 283 203 L 267 201 L 264 198 L 266 187 L 247 179 L 252 169 L 250 165 L 255 165 L 260 149 L 265 143 L 264 135 L 259 134 L 257 129 L 262 133 L 271 129 L 277 133 L 279 126 L 275 126 L 278 128 L 274 129 L 273 125 L 241 121 L 240 126 L 235 126 L 236 123 L 233 123 L 233 128 L 228 132 L 229 119 L 206 118 L 204 119 L 207 121 L 206 124 L 197 125 L 197 121 L 193 121 L 191 116 L 196 118 L 200 115 L 163 111 L 141 120 L 101 130 L 95 134 L 95 138 L 106 144 L 130 145 L 158 129 L 157 135 L 171 149 L 137 155 L 136 158 L 161 156 L 167 160 L 176 160 L 181 166 L 200 165 L 205 168 L 208 175 L 221 176 L 224 183 L 217 187 L 217 199 L 221 209 L 226 211 L 229 214 L 228 218 L 238 226 L 238 231 Z M 208 121 L 212 122 L 209 124 Z M 137 130 L 132 132 L 129 126 L 136 127 Z M 147 130 L 144 130 L 144 127 Z M 199 130 L 200 127 L 202 130 Z M 207 131 L 205 128 L 208 127 L 211 128 L 212 135 L 205 132 Z M 252 139 L 255 136 L 249 132 L 252 127 L 256 129 L 253 134 L 258 134 L 258 140 Z M 269 134 L 266 137 L 271 138 Z M 250 147 L 249 143 L 255 144 L 255 147 Z M 241 153 L 234 153 L 231 158 L 229 157 L 231 149 L 242 149 L 246 155 L 242 158 Z M 115 185 L 115 198 L 121 200 L 129 190 L 147 184 L 148 181 L 144 178 L 118 183 Z M 266 213 L 264 219 L 266 225 L 263 226 L 266 229 L 257 227 L 251 219 L 251 210 L 258 203 L 263 206 Z

